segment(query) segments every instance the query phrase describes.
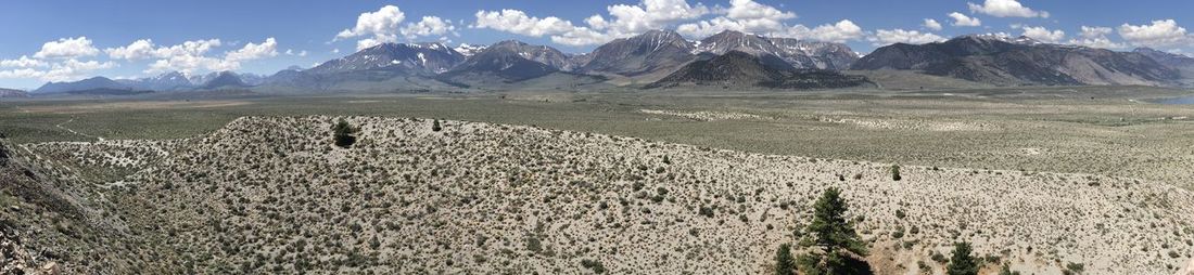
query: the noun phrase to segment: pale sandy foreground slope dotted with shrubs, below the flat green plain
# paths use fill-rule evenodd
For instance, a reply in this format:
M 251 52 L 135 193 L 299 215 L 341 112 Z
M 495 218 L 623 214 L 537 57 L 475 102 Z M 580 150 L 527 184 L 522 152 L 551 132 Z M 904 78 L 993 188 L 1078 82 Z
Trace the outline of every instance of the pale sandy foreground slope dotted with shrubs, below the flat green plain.
M 345 149 L 337 119 L 23 148 L 45 167 L 135 167 L 80 179 L 123 194 L 129 229 L 168 236 L 152 244 L 181 273 L 759 274 L 831 186 L 878 274 L 941 271 L 930 255 L 955 240 L 1029 274 L 1168 274 L 1194 249 L 1194 194 L 1134 179 L 904 167 L 893 181 L 888 164 L 402 118 L 344 118 L 359 129 Z

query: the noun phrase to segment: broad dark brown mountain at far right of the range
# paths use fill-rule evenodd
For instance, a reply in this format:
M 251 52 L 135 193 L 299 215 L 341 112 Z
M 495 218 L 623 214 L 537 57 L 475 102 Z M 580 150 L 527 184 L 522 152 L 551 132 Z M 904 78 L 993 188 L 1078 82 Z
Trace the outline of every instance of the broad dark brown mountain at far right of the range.
M 962 36 L 876 49 L 855 70 L 919 70 L 930 75 L 1017 85 L 1171 85 L 1178 73 L 1137 52 L 1045 44 L 1030 38 Z

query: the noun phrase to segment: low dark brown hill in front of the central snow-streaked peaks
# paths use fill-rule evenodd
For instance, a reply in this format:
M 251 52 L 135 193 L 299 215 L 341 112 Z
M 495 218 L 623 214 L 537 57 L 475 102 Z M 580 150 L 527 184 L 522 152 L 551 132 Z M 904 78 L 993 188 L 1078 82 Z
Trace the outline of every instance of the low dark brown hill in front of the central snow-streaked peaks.
M 758 57 L 757 55 L 762 55 Z M 798 70 L 770 54 L 730 51 L 706 61 L 689 63 L 647 88 L 678 86 L 763 87 L 763 88 L 845 88 L 868 85 L 866 77 L 830 70 Z

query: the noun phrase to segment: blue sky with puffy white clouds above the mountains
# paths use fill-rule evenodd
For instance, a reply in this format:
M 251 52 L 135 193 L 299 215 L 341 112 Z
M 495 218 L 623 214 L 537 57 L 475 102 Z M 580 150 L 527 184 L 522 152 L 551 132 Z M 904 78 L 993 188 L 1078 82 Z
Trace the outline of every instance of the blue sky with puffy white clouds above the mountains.
M 519 39 L 579 54 L 657 29 L 838 42 L 860 54 L 970 33 L 1194 54 L 1189 11 L 1189 0 L 4 1 L 0 87 L 176 70 L 269 75 L 377 43 Z

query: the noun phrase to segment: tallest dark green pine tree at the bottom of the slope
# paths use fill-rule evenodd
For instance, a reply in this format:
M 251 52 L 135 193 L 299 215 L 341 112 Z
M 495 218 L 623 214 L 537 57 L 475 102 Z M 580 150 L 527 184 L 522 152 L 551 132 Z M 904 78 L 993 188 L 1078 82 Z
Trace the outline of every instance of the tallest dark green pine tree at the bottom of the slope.
M 830 187 L 813 205 L 813 221 L 808 224 L 808 243 L 821 249 L 824 255 L 807 255 L 801 262 L 805 274 L 855 274 L 868 273 L 869 267 L 854 256 L 866 256 L 867 246 L 845 218 L 849 205 L 842 199 L 842 190 Z M 848 255 L 849 254 L 854 254 Z M 864 270 L 860 270 L 864 269 Z

